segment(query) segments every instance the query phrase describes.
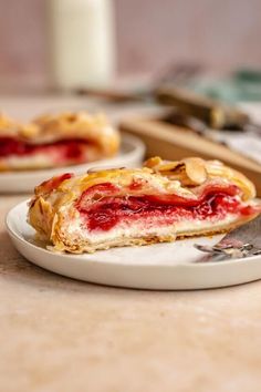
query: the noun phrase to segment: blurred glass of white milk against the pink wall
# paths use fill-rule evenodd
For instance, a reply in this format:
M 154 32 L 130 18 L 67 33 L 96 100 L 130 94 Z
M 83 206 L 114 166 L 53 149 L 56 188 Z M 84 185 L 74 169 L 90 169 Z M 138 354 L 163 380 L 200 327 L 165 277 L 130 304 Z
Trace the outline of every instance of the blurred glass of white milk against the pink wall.
M 104 87 L 115 73 L 112 0 L 49 0 L 55 86 Z

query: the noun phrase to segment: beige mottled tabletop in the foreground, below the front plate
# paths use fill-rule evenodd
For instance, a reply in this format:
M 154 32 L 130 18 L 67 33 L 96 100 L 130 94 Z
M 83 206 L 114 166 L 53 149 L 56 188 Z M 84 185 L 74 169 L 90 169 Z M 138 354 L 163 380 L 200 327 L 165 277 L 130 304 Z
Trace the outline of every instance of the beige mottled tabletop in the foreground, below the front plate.
M 258 392 L 261 281 L 184 292 L 88 285 L 13 248 L 0 196 L 0 391 Z

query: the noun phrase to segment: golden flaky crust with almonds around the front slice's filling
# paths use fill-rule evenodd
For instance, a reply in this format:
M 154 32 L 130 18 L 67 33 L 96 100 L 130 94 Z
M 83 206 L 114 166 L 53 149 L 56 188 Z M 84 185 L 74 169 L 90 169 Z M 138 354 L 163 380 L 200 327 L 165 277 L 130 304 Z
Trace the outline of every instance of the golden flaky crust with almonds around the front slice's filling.
M 206 162 L 199 158 L 187 158 L 180 162 L 164 162 L 158 157 L 148 159 L 145 167 L 137 169 L 115 168 L 107 171 L 91 171 L 82 176 L 65 174 L 53 177 L 35 188 L 35 195 L 29 206 L 29 223 L 38 235 L 54 246 L 55 250 L 70 252 L 92 252 L 114 246 L 146 245 L 160 241 L 173 241 L 177 237 L 198 236 L 226 231 L 237 225 L 253 218 L 238 217 L 230 223 L 216 224 L 177 233 L 175 225 L 164 235 L 137 235 L 107 238 L 106 240 L 85 240 L 72 231 L 70 223 L 80 219 L 75 207 L 83 194 L 94 186 L 109 184 L 115 187 L 114 197 L 129 196 L 171 196 L 176 195 L 188 200 L 197 200 L 207 187 L 220 189 L 236 185 L 242 203 L 250 202 L 255 196 L 253 184 L 241 173 L 233 171 L 220 162 Z M 116 189 L 116 190 L 115 190 Z M 95 190 L 86 196 L 85 203 L 95 203 L 108 196 L 106 190 Z M 257 215 L 257 214 L 255 214 Z

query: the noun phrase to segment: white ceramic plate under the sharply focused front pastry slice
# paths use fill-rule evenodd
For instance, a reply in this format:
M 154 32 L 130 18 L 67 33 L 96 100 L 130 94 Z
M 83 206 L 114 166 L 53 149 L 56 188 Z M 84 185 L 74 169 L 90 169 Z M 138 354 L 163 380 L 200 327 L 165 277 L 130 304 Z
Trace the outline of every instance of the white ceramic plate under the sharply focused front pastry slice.
M 202 254 L 194 244 L 213 245 L 222 236 L 194 238 L 173 244 L 114 248 L 93 255 L 54 254 L 34 240 L 27 224 L 23 202 L 7 216 L 9 235 L 33 264 L 66 277 L 90 282 L 137 289 L 181 290 L 231 286 L 261 278 L 261 257 L 219 262 L 195 261 Z

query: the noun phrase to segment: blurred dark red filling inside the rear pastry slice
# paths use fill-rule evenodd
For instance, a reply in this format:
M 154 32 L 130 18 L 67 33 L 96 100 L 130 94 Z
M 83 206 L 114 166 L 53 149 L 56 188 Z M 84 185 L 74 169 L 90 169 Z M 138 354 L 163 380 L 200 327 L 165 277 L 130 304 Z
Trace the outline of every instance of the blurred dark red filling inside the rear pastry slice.
M 85 147 L 90 141 L 80 138 L 61 140 L 46 144 L 29 144 L 14 137 L 0 137 L 0 157 L 34 154 L 55 155 L 56 161 L 81 161 L 85 158 Z

